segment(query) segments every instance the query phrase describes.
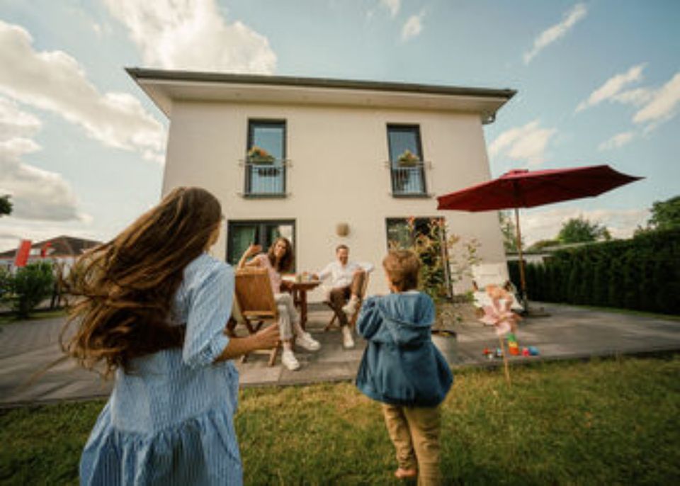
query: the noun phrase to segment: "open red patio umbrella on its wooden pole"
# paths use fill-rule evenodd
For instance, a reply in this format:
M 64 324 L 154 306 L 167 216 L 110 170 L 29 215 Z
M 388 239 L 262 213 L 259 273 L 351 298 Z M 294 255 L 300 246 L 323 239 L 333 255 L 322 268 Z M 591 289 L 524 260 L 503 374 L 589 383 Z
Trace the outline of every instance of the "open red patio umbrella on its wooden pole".
M 638 181 L 608 165 L 528 171 L 516 169 L 497 179 L 470 186 L 455 193 L 439 196 L 437 209 L 488 211 L 513 208 L 519 249 L 519 274 L 526 309 L 526 281 L 519 229 L 519 208 L 533 208 L 562 200 L 598 196 L 618 186 Z

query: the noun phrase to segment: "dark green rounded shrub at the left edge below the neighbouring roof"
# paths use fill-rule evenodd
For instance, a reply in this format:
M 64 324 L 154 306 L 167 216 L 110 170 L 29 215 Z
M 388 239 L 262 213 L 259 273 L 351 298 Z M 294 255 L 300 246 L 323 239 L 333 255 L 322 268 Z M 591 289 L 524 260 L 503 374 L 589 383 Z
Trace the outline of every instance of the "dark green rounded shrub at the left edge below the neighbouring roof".
M 52 294 L 55 276 L 52 264 L 46 261 L 28 264 L 7 278 L 8 289 L 3 299 L 17 317 L 28 317 L 31 310 Z

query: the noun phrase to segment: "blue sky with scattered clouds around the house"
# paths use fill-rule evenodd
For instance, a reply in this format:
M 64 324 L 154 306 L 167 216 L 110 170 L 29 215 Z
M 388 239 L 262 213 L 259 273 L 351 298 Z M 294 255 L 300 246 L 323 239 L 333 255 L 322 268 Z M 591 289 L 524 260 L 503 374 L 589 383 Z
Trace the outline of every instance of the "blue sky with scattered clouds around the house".
M 645 179 L 521 211 L 630 237 L 680 194 L 677 0 L 0 0 L 0 251 L 106 241 L 160 198 L 168 120 L 125 67 L 515 89 L 492 176 L 609 164 Z

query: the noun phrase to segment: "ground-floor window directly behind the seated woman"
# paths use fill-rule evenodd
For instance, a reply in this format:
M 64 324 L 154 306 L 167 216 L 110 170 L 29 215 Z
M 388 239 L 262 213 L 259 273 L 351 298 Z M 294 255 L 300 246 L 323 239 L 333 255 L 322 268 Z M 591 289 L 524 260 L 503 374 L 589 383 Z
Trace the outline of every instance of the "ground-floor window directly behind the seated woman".
M 266 252 L 278 237 L 288 238 L 295 251 L 295 221 L 229 221 L 227 226 L 227 261 L 236 266 L 251 243 Z M 295 271 L 295 261 L 293 269 Z

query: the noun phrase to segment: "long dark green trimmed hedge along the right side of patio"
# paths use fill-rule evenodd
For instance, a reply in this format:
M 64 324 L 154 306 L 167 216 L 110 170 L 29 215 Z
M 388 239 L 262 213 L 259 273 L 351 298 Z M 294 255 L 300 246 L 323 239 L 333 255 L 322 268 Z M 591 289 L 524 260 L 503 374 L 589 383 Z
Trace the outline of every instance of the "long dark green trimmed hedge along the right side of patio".
M 531 300 L 680 315 L 680 230 L 557 251 L 526 266 L 526 286 Z

